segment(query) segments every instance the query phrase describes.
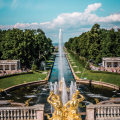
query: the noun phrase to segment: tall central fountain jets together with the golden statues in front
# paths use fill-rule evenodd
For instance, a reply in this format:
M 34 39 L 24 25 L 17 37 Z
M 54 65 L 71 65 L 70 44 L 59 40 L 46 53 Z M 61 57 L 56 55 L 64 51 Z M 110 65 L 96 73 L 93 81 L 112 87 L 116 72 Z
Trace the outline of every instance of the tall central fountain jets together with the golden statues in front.
M 64 79 L 64 70 L 63 70 L 63 60 L 62 60 L 62 32 L 60 29 L 59 32 L 59 78 L 58 83 L 55 82 L 54 84 L 50 83 L 50 95 L 47 98 L 47 101 L 53 105 L 55 111 L 52 114 L 52 118 L 50 118 L 49 115 L 47 115 L 47 118 L 49 120 L 56 119 L 56 120 L 63 120 L 63 119 L 81 119 L 81 115 L 78 113 L 78 105 L 79 102 L 83 101 L 85 98 L 83 95 L 79 94 L 79 90 L 77 90 L 76 82 L 71 81 L 69 96 L 67 92 L 67 87 Z M 53 94 L 54 93 L 54 94 Z M 61 95 L 61 96 L 60 96 Z M 78 95 L 80 96 L 79 99 Z M 50 100 L 52 98 L 52 100 Z M 62 101 L 61 101 L 61 99 Z M 68 101 L 69 98 L 69 101 Z M 70 105 L 70 108 L 67 108 L 67 106 Z M 64 106 L 64 110 L 63 110 Z M 51 106 L 51 110 L 53 110 Z

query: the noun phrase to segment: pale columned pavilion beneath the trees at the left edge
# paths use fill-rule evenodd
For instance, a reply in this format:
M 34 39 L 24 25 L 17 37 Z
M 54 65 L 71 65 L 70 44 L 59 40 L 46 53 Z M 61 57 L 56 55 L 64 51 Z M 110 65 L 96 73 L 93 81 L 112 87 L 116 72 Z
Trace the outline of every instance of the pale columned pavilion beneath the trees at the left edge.
M 20 60 L 0 60 L 0 70 L 18 70 Z

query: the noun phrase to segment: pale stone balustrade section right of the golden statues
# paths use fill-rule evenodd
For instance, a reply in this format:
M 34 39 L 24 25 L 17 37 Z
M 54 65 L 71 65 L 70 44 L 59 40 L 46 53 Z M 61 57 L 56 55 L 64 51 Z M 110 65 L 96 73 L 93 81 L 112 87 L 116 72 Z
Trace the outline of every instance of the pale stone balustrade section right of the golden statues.
M 86 106 L 86 120 L 120 120 L 120 104 L 91 103 Z

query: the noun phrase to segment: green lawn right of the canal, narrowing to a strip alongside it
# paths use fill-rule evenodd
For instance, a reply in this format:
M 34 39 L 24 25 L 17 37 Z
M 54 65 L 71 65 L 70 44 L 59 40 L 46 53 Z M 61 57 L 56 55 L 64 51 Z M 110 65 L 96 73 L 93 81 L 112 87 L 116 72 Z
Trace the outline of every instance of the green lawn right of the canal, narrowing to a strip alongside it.
M 120 74 L 107 74 L 107 73 L 92 73 L 90 70 L 85 69 L 79 61 L 77 61 L 71 54 L 67 55 L 70 56 L 73 61 L 70 61 L 70 63 L 75 62 L 74 64 L 71 64 L 72 66 L 79 66 L 79 71 L 81 73 L 75 73 L 79 78 L 87 78 L 88 80 L 95 80 L 95 81 L 100 81 L 102 79 L 102 82 L 107 82 L 111 84 L 115 84 L 120 86 Z M 70 60 L 70 59 L 69 59 Z M 74 68 L 74 72 L 78 71 L 78 67 Z M 83 72 L 84 71 L 84 72 Z

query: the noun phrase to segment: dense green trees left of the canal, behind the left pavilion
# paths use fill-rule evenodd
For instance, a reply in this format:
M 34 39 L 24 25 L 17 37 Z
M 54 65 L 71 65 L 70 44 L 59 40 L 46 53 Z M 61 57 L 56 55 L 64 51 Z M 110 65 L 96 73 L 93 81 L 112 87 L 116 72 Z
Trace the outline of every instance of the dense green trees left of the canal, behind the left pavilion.
M 0 58 L 20 59 L 22 65 L 39 58 L 39 54 L 53 47 L 52 40 L 46 38 L 41 29 L 0 30 Z

